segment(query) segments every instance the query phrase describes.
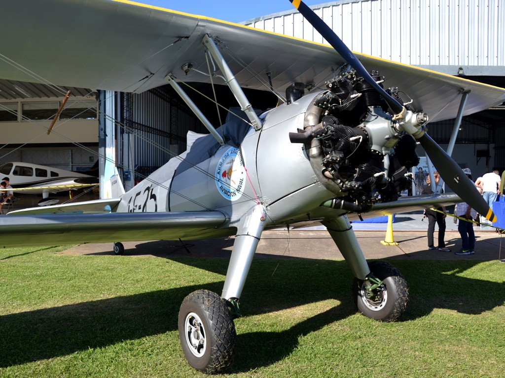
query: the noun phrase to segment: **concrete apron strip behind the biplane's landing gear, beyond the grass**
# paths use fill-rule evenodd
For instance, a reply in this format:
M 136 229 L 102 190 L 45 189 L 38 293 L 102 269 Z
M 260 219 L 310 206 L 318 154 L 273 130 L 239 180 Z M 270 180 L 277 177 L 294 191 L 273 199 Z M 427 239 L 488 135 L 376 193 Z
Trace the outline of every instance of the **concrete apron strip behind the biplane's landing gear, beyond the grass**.
M 491 261 L 505 259 L 505 240 L 494 228 L 474 227 L 476 235 L 475 254 L 455 255 L 461 249 L 461 237 L 457 224 L 447 217 L 445 232 L 446 247 L 450 252 L 428 250 L 427 220 L 422 220 L 422 211 L 395 216 L 393 241 L 398 245 L 383 245 L 386 238 L 386 223 L 352 223 L 358 242 L 367 259 L 420 259 L 420 260 L 475 260 Z M 434 239 L 438 231 L 435 228 Z M 125 242 L 126 256 L 174 257 L 223 257 L 229 258 L 233 237 L 189 241 L 142 241 Z M 390 240 L 388 240 L 390 241 Z M 113 254 L 112 243 L 82 244 L 65 251 L 67 254 Z M 255 258 L 305 258 L 341 260 L 342 255 L 324 227 L 310 229 L 265 231 L 259 242 Z

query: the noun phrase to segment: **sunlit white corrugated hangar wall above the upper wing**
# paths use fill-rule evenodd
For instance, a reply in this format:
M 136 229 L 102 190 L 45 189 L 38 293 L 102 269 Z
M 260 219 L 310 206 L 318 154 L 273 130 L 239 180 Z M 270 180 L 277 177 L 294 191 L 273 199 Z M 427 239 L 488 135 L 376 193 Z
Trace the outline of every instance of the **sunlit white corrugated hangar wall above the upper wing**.
M 311 8 L 356 52 L 414 66 L 505 66 L 503 0 L 344 0 Z M 296 11 L 245 24 L 326 43 Z

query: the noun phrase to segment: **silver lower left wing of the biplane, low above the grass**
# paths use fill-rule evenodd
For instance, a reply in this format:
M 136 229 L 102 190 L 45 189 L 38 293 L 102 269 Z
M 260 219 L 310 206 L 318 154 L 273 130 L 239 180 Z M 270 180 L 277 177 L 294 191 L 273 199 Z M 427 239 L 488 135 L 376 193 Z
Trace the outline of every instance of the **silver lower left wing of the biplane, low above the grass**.
M 218 211 L 13 215 L 0 217 L 0 245 L 21 247 L 218 237 L 234 233 L 231 228 L 219 229 L 226 220 Z

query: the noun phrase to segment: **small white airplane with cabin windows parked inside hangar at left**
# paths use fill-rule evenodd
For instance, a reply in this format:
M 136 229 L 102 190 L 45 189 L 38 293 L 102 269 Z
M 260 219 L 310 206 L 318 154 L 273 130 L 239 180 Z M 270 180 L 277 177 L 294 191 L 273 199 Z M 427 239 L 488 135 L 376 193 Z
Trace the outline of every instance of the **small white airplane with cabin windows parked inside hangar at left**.
M 0 166 L 0 175 L 9 177 L 14 193 L 41 194 L 39 206 L 54 205 L 58 199 L 49 194 L 75 191 L 98 184 L 98 178 L 85 173 L 40 164 L 13 161 Z

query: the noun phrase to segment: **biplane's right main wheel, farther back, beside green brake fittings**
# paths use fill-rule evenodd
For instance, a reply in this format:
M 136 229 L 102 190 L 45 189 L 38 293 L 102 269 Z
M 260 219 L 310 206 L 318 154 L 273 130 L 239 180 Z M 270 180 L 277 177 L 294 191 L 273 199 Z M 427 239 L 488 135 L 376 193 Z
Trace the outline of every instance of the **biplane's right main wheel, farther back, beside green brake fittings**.
M 374 290 L 373 297 L 368 298 L 363 280 L 354 279 L 352 297 L 358 310 L 367 318 L 394 322 L 407 308 L 409 300 L 407 281 L 398 269 L 385 261 L 373 261 L 368 266 L 383 284 Z

